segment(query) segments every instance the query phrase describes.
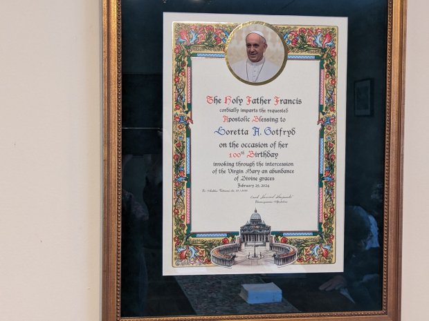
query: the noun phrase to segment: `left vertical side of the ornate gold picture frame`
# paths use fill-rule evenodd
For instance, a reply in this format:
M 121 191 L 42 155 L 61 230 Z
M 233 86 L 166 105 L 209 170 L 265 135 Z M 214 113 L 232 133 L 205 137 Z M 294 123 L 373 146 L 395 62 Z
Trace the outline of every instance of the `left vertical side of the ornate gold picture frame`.
M 120 0 L 102 0 L 102 320 L 120 320 Z M 119 184 L 119 185 L 118 185 Z M 119 250 L 118 250 L 119 249 Z

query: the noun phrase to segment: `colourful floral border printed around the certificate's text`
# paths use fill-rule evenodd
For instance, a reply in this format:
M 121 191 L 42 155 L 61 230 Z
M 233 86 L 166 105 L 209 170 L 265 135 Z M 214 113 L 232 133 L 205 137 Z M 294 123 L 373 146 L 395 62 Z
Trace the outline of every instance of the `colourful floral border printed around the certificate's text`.
M 237 23 L 174 23 L 173 27 L 173 266 L 211 266 L 210 251 L 234 242 L 238 233 L 193 234 L 190 224 L 191 57 L 223 57 L 226 41 Z M 295 264 L 335 262 L 336 224 L 336 83 L 338 28 L 335 26 L 274 26 L 289 48 L 289 59 L 304 56 L 320 61 L 319 226 L 310 233 L 273 232 L 275 242 L 298 249 Z M 298 59 L 298 58 L 297 58 Z

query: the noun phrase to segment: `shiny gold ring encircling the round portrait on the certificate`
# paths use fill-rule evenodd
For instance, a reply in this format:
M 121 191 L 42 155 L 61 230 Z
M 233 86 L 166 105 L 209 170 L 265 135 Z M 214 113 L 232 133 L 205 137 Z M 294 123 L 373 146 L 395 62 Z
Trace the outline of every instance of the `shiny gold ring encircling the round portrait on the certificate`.
M 228 46 L 230 44 L 230 42 L 232 41 L 232 39 L 234 39 L 235 34 L 247 27 L 247 26 L 251 26 L 251 25 L 260 25 L 260 26 L 264 26 L 266 28 L 270 28 L 271 30 L 273 30 L 276 35 L 280 38 L 280 41 L 283 44 L 283 48 L 284 48 L 284 58 L 283 58 L 283 63 L 282 66 L 280 66 L 280 69 L 277 71 L 277 73 L 271 77 L 270 79 L 266 80 L 266 81 L 260 81 L 260 82 L 251 82 L 251 81 L 246 81 L 244 79 L 242 79 L 241 77 L 239 77 L 234 70 L 232 70 L 231 66 L 230 66 L 230 62 L 228 60 Z M 225 46 L 225 61 L 226 61 L 226 66 L 228 66 L 228 69 L 230 70 L 231 74 L 237 78 L 239 81 L 244 82 L 244 84 L 248 84 L 248 85 L 252 85 L 252 86 L 260 86 L 260 85 L 265 85 L 270 83 L 271 81 L 273 81 L 274 79 L 276 79 L 277 77 L 279 77 L 279 75 L 283 72 L 284 70 L 284 66 L 286 66 L 286 61 L 289 55 L 289 50 L 288 47 L 286 45 L 286 42 L 282 39 L 282 34 L 280 34 L 280 32 L 277 30 L 277 28 L 275 28 L 274 26 L 272 26 L 270 23 L 266 23 L 266 22 L 262 22 L 262 21 L 248 21 L 245 23 L 241 23 L 239 26 L 237 26 L 237 28 L 235 28 L 234 30 L 232 30 L 230 37 L 228 37 L 228 41 L 226 41 L 226 46 Z

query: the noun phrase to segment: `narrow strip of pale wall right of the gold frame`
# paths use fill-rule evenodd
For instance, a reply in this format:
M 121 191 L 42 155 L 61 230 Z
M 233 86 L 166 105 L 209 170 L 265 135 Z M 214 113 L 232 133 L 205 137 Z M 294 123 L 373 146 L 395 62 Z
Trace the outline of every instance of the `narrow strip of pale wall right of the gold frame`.
M 408 0 L 403 171 L 403 321 L 429 319 L 429 1 Z

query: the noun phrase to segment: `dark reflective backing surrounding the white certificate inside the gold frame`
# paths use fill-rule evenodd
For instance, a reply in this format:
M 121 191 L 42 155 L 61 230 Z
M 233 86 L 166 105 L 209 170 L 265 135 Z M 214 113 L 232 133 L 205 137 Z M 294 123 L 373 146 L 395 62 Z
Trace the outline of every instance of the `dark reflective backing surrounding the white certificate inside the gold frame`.
M 381 309 L 387 1 L 249 3 L 122 0 L 122 317 Z M 348 17 L 344 273 L 162 275 L 163 12 Z M 354 113 L 363 79 L 372 80 L 369 116 Z M 274 282 L 284 302 L 246 304 L 246 282 Z

